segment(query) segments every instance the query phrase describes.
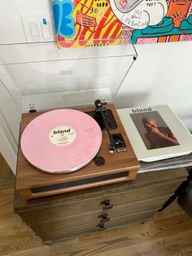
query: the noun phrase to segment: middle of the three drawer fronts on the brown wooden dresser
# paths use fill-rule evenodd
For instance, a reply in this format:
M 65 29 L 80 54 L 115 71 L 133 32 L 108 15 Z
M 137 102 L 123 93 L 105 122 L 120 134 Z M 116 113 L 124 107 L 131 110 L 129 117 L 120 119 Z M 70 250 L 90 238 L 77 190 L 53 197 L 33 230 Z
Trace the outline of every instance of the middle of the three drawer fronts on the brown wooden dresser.
M 119 218 L 124 215 L 137 214 L 146 210 L 158 209 L 167 199 L 168 196 L 160 196 L 150 200 L 118 205 L 105 212 L 96 210 L 85 214 L 76 214 L 70 217 L 34 223 L 31 224 L 30 227 L 36 234 L 42 234 L 46 232 L 54 232 L 63 228 L 79 227 L 89 223 L 111 223 L 112 218 Z

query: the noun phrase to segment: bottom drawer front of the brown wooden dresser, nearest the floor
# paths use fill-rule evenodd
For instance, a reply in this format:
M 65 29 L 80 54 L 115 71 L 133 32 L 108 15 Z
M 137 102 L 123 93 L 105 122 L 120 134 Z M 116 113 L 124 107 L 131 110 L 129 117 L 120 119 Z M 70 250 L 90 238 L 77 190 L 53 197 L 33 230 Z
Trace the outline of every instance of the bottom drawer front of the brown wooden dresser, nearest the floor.
M 146 221 L 154 216 L 156 210 L 149 210 L 146 212 L 142 212 L 139 214 L 131 214 L 129 216 L 123 216 L 120 218 L 111 219 L 111 222 L 104 224 L 104 227 L 99 227 L 98 223 L 90 223 L 87 225 L 83 225 L 81 227 L 71 227 L 66 229 L 60 229 L 55 232 L 47 232 L 45 234 L 41 234 L 40 237 L 42 241 L 54 241 L 59 239 L 69 239 L 72 236 L 80 236 L 83 234 L 88 234 L 96 231 L 103 231 L 106 228 L 110 229 L 113 227 L 120 227 L 127 225 L 129 223 L 136 223 Z

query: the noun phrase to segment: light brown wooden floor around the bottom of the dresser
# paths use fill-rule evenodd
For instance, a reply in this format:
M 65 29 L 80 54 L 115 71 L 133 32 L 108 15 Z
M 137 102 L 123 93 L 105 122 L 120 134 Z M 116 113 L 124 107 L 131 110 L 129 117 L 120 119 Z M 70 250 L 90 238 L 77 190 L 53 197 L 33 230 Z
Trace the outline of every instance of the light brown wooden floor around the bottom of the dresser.
M 0 255 L 192 255 L 192 219 L 177 202 L 151 222 L 47 246 L 14 214 L 13 191 L 13 174 L 0 157 Z

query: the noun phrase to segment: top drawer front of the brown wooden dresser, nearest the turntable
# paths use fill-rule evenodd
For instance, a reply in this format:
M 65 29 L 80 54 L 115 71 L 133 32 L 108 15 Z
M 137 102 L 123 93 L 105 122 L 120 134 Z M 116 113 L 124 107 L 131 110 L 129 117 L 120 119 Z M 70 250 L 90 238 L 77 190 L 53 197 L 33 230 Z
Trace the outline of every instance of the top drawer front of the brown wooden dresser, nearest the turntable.
M 132 191 L 120 192 L 106 196 L 97 196 L 88 200 L 74 201 L 66 205 L 53 205 L 30 211 L 20 211 L 20 217 L 28 224 L 39 223 L 55 218 L 85 213 L 92 210 L 103 210 L 101 202 L 110 200 L 112 205 L 123 205 L 134 201 L 142 201 L 147 198 L 164 196 L 173 193 L 181 182 L 168 183 L 150 188 L 140 188 Z

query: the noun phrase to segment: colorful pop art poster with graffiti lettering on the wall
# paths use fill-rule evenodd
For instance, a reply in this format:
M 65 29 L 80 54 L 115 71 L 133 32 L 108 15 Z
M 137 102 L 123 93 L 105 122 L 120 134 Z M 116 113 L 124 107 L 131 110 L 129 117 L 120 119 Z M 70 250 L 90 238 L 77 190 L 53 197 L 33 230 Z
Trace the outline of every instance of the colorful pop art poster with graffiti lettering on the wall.
M 192 40 L 191 0 L 52 0 L 59 48 Z

